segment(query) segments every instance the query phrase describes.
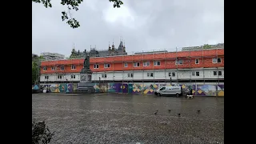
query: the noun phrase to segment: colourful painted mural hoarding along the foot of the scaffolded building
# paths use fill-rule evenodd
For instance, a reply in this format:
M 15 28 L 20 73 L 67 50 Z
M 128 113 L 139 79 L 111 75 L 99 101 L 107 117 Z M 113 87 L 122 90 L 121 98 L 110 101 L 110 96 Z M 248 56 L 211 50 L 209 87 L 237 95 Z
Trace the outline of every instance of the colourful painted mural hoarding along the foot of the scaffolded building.
M 165 83 L 94 83 L 94 89 L 100 93 L 129 93 L 129 94 L 154 94 L 154 90 L 162 86 L 174 86 L 174 84 Z M 177 86 L 177 85 L 176 85 Z M 189 92 L 196 96 L 224 96 L 224 85 L 189 85 L 182 84 L 183 92 Z M 35 86 L 32 86 L 32 88 Z M 48 89 L 55 93 L 72 93 L 77 90 L 77 83 L 59 83 L 59 84 L 42 84 L 43 89 Z

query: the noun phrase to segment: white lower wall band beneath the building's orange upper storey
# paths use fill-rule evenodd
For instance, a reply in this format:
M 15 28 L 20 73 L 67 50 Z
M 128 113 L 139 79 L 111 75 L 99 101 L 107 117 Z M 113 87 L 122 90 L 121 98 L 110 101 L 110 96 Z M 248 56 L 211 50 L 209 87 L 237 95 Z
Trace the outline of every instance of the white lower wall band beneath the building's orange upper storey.
M 199 76 L 192 75 L 192 71 L 199 72 Z M 217 75 L 214 76 L 214 71 L 222 71 L 222 76 Z M 175 72 L 175 77 L 171 77 L 173 80 L 178 79 L 218 79 L 218 78 L 224 78 L 224 68 L 210 68 L 210 69 L 193 69 L 193 70 L 134 70 L 134 71 L 110 71 L 110 72 L 94 72 L 92 75 L 92 81 L 98 81 L 99 77 L 101 78 L 101 81 L 107 80 L 107 81 L 132 81 L 132 80 L 154 80 L 154 79 L 166 79 L 167 81 L 170 80 L 169 73 Z M 134 74 L 134 77 L 128 77 L 128 74 Z M 147 73 L 153 73 L 153 77 L 147 77 Z M 102 78 L 102 74 L 106 74 L 106 78 Z M 62 79 L 58 79 L 58 74 L 42 74 L 40 81 L 41 82 L 47 82 L 47 79 L 45 79 L 45 75 L 49 76 L 48 82 L 52 81 L 62 81 L 65 82 L 66 79 L 68 81 L 74 81 L 78 82 L 80 81 L 80 75 L 79 73 L 74 73 L 75 78 L 71 78 L 71 74 L 64 74 L 62 75 Z

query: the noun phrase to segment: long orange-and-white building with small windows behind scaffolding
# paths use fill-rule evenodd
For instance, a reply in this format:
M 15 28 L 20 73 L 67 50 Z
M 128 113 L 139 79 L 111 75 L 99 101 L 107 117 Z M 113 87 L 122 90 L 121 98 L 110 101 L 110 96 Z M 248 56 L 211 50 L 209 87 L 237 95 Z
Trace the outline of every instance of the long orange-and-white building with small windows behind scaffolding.
M 41 82 L 79 82 L 83 58 L 42 62 Z M 93 82 L 224 82 L 224 49 L 90 58 Z

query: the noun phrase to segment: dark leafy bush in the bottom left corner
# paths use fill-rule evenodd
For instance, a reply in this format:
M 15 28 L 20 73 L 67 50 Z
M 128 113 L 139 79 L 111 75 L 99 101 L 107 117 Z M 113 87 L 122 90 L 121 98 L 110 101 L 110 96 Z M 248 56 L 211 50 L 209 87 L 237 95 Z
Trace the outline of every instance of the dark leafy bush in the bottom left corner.
M 32 122 L 32 144 L 47 144 L 53 136 L 54 132 L 50 132 L 48 126 L 46 126 L 46 122 Z

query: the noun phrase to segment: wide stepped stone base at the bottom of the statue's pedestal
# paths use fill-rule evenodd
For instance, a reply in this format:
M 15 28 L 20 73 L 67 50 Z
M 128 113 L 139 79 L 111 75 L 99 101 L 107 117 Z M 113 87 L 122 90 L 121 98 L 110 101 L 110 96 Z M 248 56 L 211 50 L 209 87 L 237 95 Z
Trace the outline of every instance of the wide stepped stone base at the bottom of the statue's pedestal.
M 76 92 L 78 94 L 93 94 L 95 93 L 94 84 L 91 82 L 80 82 Z

